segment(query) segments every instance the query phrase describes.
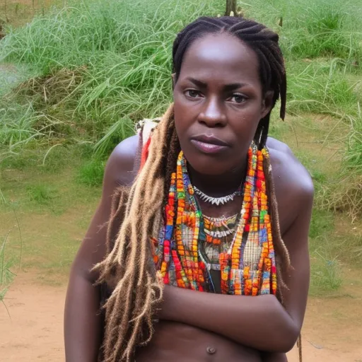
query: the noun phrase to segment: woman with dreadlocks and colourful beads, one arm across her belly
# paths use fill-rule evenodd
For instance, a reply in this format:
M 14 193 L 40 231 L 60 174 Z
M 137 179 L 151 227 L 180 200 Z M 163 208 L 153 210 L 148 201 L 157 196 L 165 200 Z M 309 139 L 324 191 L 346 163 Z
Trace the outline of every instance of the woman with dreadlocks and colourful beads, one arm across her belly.
M 199 18 L 173 68 L 174 104 L 107 163 L 71 269 L 66 361 L 97 361 L 102 343 L 105 361 L 286 361 L 308 295 L 313 184 L 267 138 L 286 105 L 278 35 Z

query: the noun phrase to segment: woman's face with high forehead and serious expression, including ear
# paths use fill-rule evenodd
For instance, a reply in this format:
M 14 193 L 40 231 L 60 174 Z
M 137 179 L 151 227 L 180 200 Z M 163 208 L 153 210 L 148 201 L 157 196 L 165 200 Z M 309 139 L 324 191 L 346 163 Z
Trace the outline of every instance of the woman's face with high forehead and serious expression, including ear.
M 263 98 L 257 54 L 250 47 L 228 33 L 195 40 L 173 96 L 177 136 L 194 170 L 223 175 L 245 166 L 271 104 L 271 95 Z

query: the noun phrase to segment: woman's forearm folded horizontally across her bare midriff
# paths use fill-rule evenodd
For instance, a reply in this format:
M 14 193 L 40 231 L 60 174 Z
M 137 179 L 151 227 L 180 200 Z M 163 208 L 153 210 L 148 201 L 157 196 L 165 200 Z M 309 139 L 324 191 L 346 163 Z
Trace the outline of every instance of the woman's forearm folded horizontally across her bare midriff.
M 221 334 L 260 351 L 289 351 L 299 334 L 298 324 L 279 301 L 267 296 L 225 296 L 165 286 L 168 307 L 161 319 Z

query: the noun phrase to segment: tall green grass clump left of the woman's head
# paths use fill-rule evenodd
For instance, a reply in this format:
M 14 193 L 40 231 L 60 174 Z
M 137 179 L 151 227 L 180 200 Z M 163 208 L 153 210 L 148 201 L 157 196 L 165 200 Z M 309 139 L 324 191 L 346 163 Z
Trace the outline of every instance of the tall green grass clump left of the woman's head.
M 217 0 L 93 0 L 37 16 L 23 28 L 8 30 L 0 43 L 0 64 L 24 64 L 37 74 L 13 90 L 11 103 L 32 105 L 29 124 L 44 127 L 34 122 L 41 112 L 66 125 L 70 134 L 63 129 L 64 134 L 74 141 L 86 139 L 97 144 L 98 153 L 106 152 L 110 132 L 119 134 L 121 122 L 128 125 L 165 110 L 175 34 L 198 16 L 221 13 L 223 5 Z

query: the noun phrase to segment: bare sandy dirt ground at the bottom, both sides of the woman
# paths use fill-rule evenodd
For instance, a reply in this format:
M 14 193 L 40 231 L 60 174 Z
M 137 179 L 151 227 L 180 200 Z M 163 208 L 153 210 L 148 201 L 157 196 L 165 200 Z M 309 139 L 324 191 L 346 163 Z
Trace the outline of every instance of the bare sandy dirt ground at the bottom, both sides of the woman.
M 37 284 L 18 274 L 0 305 L 1 362 L 64 361 L 63 308 L 66 285 Z M 355 289 L 353 289 L 355 291 Z M 303 361 L 362 362 L 361 294 L 310 298 L 303 327 Z M 289 362 L 298 362 L 293 349 Z

